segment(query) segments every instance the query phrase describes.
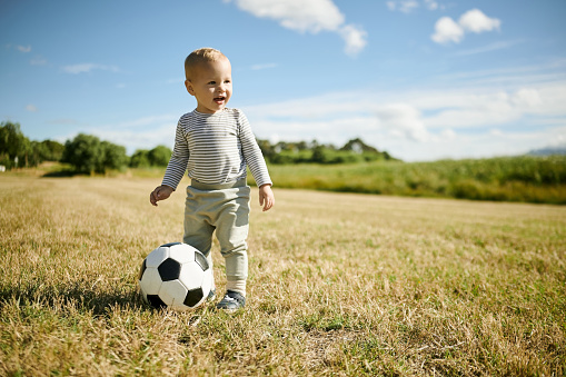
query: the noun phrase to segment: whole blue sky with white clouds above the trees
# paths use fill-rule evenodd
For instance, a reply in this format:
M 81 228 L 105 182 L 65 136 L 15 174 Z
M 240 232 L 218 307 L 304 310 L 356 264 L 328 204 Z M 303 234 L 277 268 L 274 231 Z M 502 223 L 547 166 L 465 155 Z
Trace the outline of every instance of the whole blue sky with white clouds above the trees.
M 566 143 L 564 20 L 564 0 L 0 0 L 0 121 L 172 147 L 185 57 L 215 47 L 260 139 L 518 155 Z

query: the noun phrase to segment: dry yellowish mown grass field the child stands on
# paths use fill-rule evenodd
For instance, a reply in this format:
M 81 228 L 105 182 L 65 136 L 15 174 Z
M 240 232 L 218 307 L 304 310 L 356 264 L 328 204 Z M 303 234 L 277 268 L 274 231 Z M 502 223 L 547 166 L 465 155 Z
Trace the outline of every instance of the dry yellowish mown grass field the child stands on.
M 0 375 L 566 374 L 566 207 L 252 191 L 246 309 L 173 312 L 137 294 L 159 181 L 0 176 Z

